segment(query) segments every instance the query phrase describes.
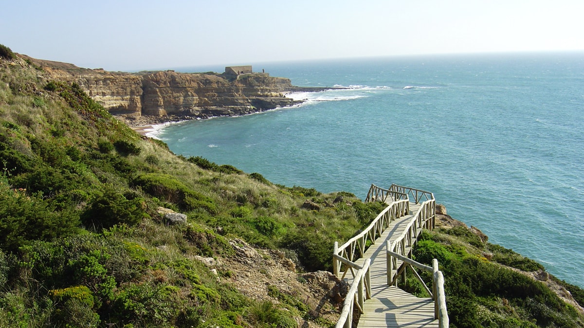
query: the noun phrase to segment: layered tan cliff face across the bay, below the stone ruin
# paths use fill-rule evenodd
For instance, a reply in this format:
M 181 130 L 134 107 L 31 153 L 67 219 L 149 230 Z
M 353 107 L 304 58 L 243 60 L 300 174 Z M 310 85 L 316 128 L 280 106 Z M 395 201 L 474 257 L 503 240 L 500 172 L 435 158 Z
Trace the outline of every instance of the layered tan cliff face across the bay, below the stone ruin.
M 30 60 L 55 79 L 77 82 L 110 113 L 126 117 L 238 116 L 296 103 L 282 95 L 294 89 L 290 79 L 262 73 L 232 76 L 174 71 L 107 72 Z

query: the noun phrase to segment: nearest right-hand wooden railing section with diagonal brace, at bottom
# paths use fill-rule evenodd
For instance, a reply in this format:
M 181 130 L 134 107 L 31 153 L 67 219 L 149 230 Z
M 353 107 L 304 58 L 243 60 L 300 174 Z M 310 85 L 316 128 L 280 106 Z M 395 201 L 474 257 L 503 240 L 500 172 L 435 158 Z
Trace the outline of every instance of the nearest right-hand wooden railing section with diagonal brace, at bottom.
M 446 309 L 446 295 L 444 294 L 444 275 L 442 274 L 442 271 L 438 270 L 438 260 L 432 259 L 432 267 L 429 267 L 425 266 L 424 264 L 418 263 L 412 259 L 409 259 L 409 257 L 405 257 L 398 253 L 392 252 L 390 249 L 391 243 L 388 240 L 387 241 L 388 281 L 390 281 L 389 277 L 391 271 L 391 264 L 395 263 L 395 261 L 397 260 L 403 261 L 404 263 L 402 264 L 402 270 L 405 272 L 405 269 L 407 267 L 411 268 L 415 277 L 418 279 L 418 281 L 422 283 L 423 287 L 426 289 L 426 292 L 430 294 L 430 297 L 432 297 L 432 300 L 434 301 L 434 319 L 438 319 L 439 327 L 447 328 L 449 326 L 450 320 Z M 430 289 L 426 286 L 426 283 L 422 280 L 422 278 L 414 269 L 414 267 L 432 273 L 432 291 L 430 291 Z M 397 275 L 399 275 L 399 273 Z

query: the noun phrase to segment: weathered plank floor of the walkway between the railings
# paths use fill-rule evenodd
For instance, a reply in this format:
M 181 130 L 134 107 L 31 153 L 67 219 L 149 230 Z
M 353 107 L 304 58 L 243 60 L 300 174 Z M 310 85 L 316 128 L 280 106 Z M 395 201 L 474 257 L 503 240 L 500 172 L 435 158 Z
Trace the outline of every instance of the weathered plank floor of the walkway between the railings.
M 410 203 L 410 212 L 415 213 L 419 206 Z M 431 298 L 418 298 L 402 289 L 387 285 L 386 241 L 391 240 L 394 243 L 394 240 L 405 231 L 411 218 L 412 215 L 405 215 L 391 222 L 380 238 L 376 239 L 376 243 L 356 261 L 362 266 L 365 259 L 371 259 L 371 299 L 365 301 L 357 328 L 439 327 L 438 320 L 434 320 L 434 302 Z M 406 254 L 410 252 L 411 247 L 406 247 Z M 401 264 L 402 261 L 398 260 L 397 268 Z M 347 282 L 351 284 L 352 276 L 349 273 L 347 276 L 349 276 Z

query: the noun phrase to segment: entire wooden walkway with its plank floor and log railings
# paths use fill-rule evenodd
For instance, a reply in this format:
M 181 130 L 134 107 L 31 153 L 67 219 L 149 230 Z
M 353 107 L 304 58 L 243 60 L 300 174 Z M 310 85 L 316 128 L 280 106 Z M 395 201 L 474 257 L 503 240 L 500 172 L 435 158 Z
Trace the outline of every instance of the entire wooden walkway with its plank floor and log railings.
M 432 266 L 412 260 L 412 247 L 422 229 L 433 229 L 436 201 L 427 191 L 392 184 L 371 184 L 367 201 L 387 207 L 359 234 L 343 245 L 335 242 L 333 273 L 350 284 L 336 328 L 449 326 L 444 277 Z M 398 288 L 406 270 L 422 282 L 430 298 L 418 298 Z M 432 273 L 427 287 L 414 268 Z

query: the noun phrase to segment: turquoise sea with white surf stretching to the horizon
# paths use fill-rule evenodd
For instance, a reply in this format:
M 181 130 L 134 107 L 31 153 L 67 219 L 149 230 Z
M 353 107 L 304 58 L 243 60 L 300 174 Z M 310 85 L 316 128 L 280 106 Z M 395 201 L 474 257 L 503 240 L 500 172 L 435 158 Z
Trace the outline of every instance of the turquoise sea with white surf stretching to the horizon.
M 222 72 L 224 67 L 182 71 Z M 432 191 L 489 242 L 584 287 L 584 54 L 438 55 L 255 64 L 347 89 L 243 117 L 167 125 L 173 152 L 274 183 Z

